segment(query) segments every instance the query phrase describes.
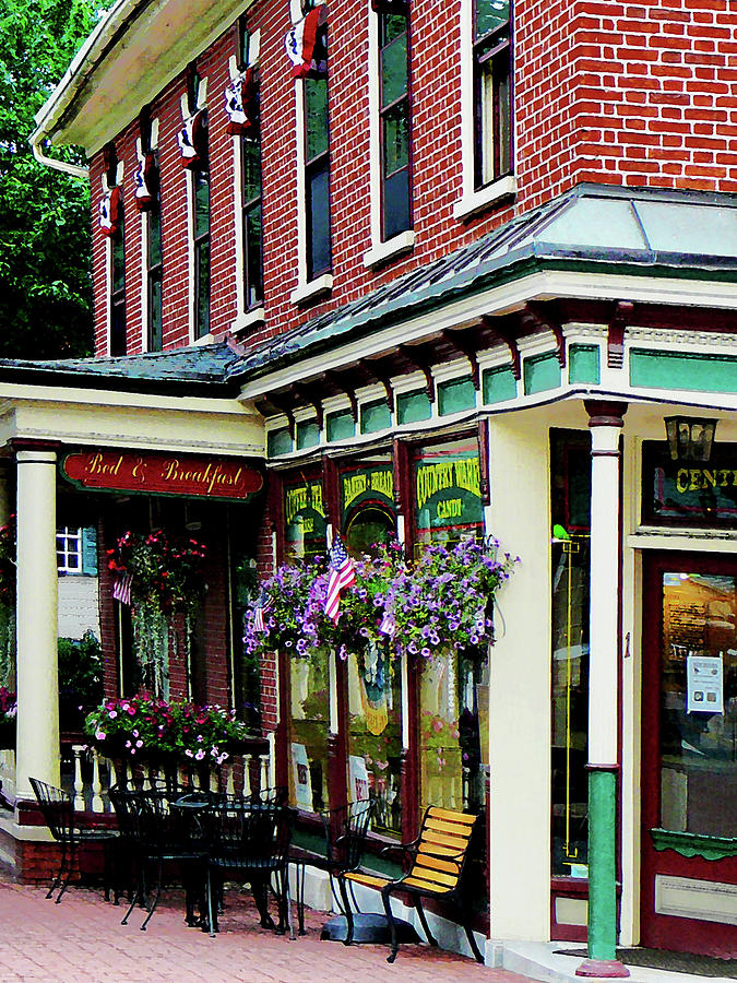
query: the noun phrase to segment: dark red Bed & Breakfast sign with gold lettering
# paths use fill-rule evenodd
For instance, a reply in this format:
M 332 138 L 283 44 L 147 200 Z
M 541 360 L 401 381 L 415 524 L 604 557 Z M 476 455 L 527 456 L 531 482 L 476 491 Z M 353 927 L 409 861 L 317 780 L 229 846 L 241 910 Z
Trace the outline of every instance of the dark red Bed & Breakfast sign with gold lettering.
M 62 458 L 62 475 L 78 488 L 245 501 L 263 474 L 239 458 L 129 450 L 85 450 Z

